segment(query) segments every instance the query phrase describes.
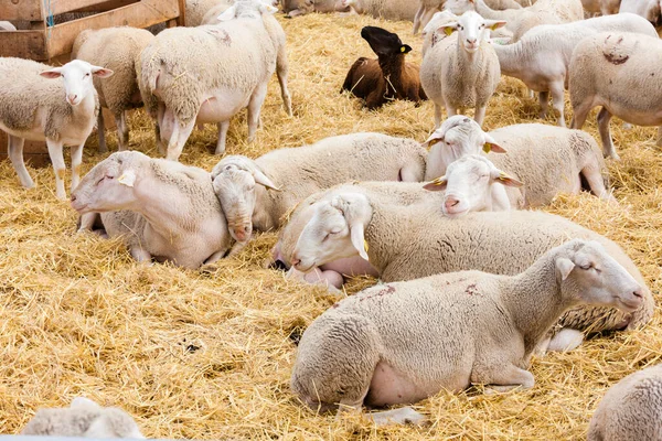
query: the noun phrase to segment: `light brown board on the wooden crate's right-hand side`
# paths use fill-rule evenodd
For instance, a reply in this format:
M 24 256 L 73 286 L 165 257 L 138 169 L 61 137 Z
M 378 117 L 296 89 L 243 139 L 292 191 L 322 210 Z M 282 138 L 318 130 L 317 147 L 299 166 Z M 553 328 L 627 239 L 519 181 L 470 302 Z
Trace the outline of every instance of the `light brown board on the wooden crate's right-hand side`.
M 74 40 L 86 29 L 102 29 L 130 25 L 148 28 L 152 24 L 177 19 L 179 17 L 178 0 L 142 0 L 113 11 L 57 24 L 50 29 L 47 40 L 49 55 L 55 57 L 72 52 Z

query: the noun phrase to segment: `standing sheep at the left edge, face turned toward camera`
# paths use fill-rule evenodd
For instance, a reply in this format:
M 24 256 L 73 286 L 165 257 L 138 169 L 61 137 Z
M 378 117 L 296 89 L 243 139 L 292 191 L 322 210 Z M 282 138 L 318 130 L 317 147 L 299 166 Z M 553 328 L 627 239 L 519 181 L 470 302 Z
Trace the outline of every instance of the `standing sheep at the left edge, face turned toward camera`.
M 62 148 L 73 146 L 72 190 L 78 185 L 83 147 L 99 111 L 92 77 L 110 75 L 113 71 L 79 60 L 52 67 L 0 57 L 0 130 L 8 135 L 9 159 L 21 185 L 34 187 L 23 162 L 25 139 L 46 141 L 55 171 L 55 195 L 60 200 L 66 197 Z

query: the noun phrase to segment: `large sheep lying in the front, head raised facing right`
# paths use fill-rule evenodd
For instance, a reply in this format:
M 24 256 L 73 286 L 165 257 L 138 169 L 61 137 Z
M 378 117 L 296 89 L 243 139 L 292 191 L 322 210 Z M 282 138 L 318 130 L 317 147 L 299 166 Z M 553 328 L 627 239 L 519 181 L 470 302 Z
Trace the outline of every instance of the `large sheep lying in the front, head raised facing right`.
M 461 271 L 380 284 L 308 326 L 290 386 L 312 409 L 338 406 L 339 415 L 472 384 L 528 389 L 531 356 L 564 312 L 591 305 L 632 313 L 642 301 L 641 286 L 592 240 L 552 248 L 517 276 Z M 399 409 L 371 418 L 382 424 L 424 417 Z

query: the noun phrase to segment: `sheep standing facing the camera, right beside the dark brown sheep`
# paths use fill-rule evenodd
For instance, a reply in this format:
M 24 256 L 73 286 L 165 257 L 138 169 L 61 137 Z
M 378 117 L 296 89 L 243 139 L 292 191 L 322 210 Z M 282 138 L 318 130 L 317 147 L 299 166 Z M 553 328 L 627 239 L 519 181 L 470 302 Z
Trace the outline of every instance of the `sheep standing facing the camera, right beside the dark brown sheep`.
M 420 84 L 435 103 L 436 127 L 441 123 L 441 106 L 449 117 L 462 108 L 476 107 L 474 119 L 482 125 L 488 100 L 501 77 L 499 60 L 483 32 L 504 24 L 468 11 L 442 28 L 447 34 L 457 30 L 456 37 L 444 39 L 427 50 L 420 65 Z

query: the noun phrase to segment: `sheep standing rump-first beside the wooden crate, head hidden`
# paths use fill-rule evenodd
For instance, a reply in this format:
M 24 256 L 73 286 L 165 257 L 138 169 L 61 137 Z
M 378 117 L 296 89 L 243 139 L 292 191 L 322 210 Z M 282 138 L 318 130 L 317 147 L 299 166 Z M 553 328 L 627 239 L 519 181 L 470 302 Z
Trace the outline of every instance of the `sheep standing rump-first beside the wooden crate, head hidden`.
M 140 64 L 140 53 L 154 36 L 143 29 L 129 26 L 85 30 L 74 41 L 72 58 L 113 69 L 115 75 L 95 79 L 99 104 L 110 110 L 117 126 L 118 150 L 129 147 L 129 128 L 126 112 L 142 105 L 136 66 Z M 99 152 L 108 151 L 104 133 L 104 112 L 99 111 L 97 132 Z

